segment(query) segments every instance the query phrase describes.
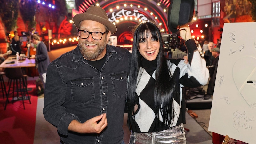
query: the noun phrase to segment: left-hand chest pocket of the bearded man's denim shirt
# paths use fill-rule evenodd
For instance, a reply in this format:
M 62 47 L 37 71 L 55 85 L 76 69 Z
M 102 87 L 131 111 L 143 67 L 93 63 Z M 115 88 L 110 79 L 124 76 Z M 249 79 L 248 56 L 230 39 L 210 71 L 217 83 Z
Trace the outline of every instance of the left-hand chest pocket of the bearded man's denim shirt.
M 85 104 L 94 100 L 93 78 L 81 78 L 71 81 L 71 94 L 74 102 Z

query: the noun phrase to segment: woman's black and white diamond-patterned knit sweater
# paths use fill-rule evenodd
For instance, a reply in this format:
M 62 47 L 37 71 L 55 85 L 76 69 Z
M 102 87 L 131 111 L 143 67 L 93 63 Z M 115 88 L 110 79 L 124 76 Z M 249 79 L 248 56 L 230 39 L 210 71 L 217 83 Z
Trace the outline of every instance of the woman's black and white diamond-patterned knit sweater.
M 209 71 L 206 63 L 201 58 L 197 50 L 196 43 L 193 39 L 185 42 L 188 50 L 188 63 L 185 64 L 183 59 L 171 59 L 167 65 L 171 72 L 171 78 L 176 83 L 176 91 L 180 96 L 174 99 L 174 119 L 170 127 L 186 123 L 185 120 L 185 99 L 182 96 L 182 87 L 198 87 L 207 84 Z M 139 110 L 134 113 L 135 121 L 131 123 L 133 132 L 157 132 L 166 130 L 169 127 L 163 124 L 163 118 L 156 118 L 154 109 L 154 87 L 156 80 L 156 60 L 142 60 L 140 72 L 137 80 L 136 97 L 139 103 Z M 161 116 L 161 115 L 160 115 Z M 158 121 L 158 123 L 157 123 Z M 158 124 L 158 125 L 156 125 Z M 158 129 L 156 130 L 156 127 Z

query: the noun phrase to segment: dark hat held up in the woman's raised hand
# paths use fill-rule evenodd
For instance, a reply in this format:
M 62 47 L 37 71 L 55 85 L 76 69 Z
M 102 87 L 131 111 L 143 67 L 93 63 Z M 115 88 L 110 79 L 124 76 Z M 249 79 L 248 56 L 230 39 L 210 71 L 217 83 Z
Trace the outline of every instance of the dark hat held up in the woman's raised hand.
M 167 23 L 172 33 L 177 33 L 176 28 L 191 22 L 194 15 L 194 0 L 171 0 L 168 8 Z

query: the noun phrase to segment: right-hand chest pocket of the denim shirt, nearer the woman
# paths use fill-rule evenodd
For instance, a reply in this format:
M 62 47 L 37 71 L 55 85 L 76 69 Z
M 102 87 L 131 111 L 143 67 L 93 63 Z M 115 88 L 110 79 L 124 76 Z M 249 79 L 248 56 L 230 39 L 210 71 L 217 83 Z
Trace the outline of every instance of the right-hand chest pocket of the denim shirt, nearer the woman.
M 110 75 L 113 84 L 113 95 L 117 97 L 126 96 L 127 93 L 127 74 L 120 72 Z

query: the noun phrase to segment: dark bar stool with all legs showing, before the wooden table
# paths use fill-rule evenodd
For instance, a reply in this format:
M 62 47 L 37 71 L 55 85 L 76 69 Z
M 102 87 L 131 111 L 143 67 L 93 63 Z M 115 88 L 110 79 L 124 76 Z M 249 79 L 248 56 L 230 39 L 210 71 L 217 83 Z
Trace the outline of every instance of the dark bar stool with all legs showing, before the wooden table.
M 12 80 L 13 80 L 12 104 L 14 101 L 14 93 L 16 92 L 17 98 L 19 98 L 19 92 L 20 92 L 21 99 L 23 102 L 23 107 L 25 109 L 24 98 L 26 94 L 28 96 L 29 103 L 31 104 L 30 97 L 28 95 L 28 90 L 27 90 L 26 75 L 25 76 L 23 75 L 21 68 L 5 68 L 5 75 L 7 78 L 10 79 L 10 83 L 9 83 L 9 90 L 8 90 L 7 100 L 5 103 L 4 110 L 6 109 L 7 103 L 9 102 L 8 98 L 10 94 Z M 18 81 L 19 81 L 19 84 L 18 84 Z M 16 83 L 16 89 L 15 89 L 15 83 Z

